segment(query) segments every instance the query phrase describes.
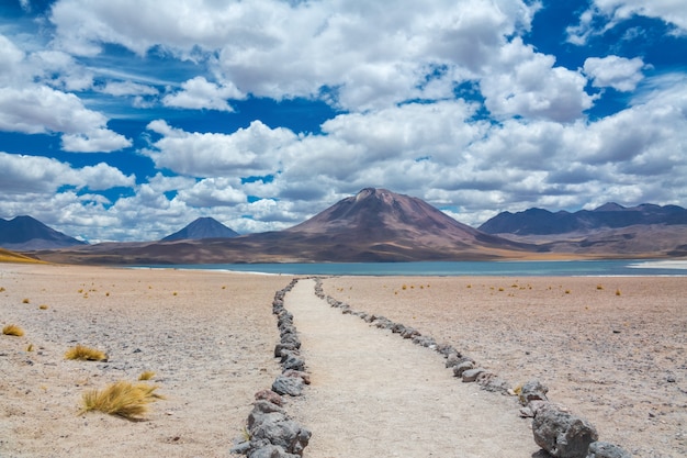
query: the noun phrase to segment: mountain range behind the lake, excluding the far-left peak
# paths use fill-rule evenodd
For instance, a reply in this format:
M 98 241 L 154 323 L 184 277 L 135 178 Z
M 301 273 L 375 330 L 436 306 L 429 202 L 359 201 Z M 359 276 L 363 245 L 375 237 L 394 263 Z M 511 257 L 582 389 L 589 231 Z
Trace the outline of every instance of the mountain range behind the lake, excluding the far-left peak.
M 474 228 L 417 198 L 367 188 L 279 232 L 237 235 L 200 219 L 159 242 L 35 248 L 31 255 L 125 265 L 675 257 L 687 256 L 685 213 L 676 205 L 612 203 L 575 213 L 530 209 L 502 213 Z

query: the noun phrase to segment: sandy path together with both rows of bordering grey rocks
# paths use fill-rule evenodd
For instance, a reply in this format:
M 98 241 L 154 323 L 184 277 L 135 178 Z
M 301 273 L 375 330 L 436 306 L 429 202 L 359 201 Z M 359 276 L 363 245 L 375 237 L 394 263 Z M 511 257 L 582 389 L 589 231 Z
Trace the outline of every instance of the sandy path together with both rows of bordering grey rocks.
M 271 390 L 256 393 L 247 437 L 237 440 L 232 453 L 248 458 L 303 456 L 312 433 L 286 415 L 282 395 L 289 395 L 301 396 L 293 398 L 291 405 L 295 416 L 317 425 L 308 449 L 308 455 L 317 458 L 630 457 L 613 444 L 597 442 L 596 429 L 588 422 L 549 402 L 548 389 L 538 381 L 526 383 L 516 393 L 506 381 L 475 367 L 472 358 L 450 345 L 439 345 L 412 327 L 325 298 L 322 278 L 297 282 L 294 279 L 277 291 L 272 303 L 281 337 L 274 356 L 281 359 L 282 375 Z M 314 295 L 308 288 L 312 283 Z M 284 308 L 286 293 L 297 319 Z M 368 325 L 339 323 L 330 308 L 320 306 L 323 302 Z M 299 323 L 300 334 L 294 323 Z M 369 324 L 387 332 L 370 333 Z M 417 345 L 391 343 L 392 334 Z M 302 340 L 307 344 L 303 351 Z M 435 350 L 436 356 L 424 348 Z M 305 395 L 303 386 L 311 383 L 311 375 L 302 354 L 307 356 L 314 381 Z M 440 370 L 439 355 L 453 377 L 476 383 L 457 384 L 448 371 Z M 510 412 L 508 398 L 486 399 L 485 391 L 517 394 L 523 405 L 520 416 L 533 417 L 531 427 Z M 523 439 L 532 433 L 543 450 L 532 453 L 533 446 Z

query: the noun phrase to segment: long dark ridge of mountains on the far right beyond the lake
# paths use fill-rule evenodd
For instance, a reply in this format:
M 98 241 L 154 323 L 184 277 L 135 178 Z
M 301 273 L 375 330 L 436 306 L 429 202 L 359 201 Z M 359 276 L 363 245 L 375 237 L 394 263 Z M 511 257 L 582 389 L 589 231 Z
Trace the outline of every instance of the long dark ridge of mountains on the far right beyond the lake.
M 687 224 L 687 210 L 677 205 L 660 206 L 649 203 L 626 208 L 612 202 L 590 211 L 581 210 L 574 213 L 529 209 L 518 213 L 499 213 L 482 224 L 480 231 L 488 234 L 527 236 L 589 233 L 656 224 Z

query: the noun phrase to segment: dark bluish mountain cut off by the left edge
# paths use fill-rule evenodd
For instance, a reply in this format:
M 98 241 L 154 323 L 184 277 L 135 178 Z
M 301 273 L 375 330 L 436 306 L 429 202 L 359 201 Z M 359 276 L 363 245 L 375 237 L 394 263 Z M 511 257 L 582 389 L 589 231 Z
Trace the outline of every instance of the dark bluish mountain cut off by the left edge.
M 52 249 L 85 242 L 57 232 L 31 216 L 16 216 L 13 220 L 0 219 L 0 246 L 12 250 Z

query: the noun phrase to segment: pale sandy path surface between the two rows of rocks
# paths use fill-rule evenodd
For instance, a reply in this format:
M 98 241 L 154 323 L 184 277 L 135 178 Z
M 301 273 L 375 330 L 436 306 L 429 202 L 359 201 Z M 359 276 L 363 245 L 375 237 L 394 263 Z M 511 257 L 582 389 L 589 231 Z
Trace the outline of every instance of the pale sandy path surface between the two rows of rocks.
M 301 280 L 285 308 L 312 384 L 289 412 L 313 432 L 308 458 L 518 457 L 539 447 L 513 398 L 462 383 L 427 348 L 344 315 Z

